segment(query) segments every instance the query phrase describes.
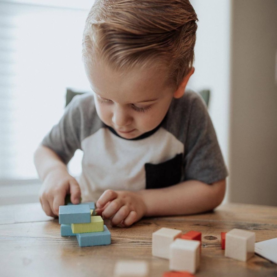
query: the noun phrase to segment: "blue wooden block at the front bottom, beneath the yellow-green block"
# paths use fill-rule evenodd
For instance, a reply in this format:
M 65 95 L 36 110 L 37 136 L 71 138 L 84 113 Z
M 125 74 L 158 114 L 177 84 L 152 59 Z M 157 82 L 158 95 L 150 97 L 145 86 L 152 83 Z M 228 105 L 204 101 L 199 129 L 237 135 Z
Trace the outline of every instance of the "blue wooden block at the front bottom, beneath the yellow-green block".
M 103 232 L 77 234 L 77 240 L 80 247 L 110 244 L 110 231 L 104 225 Z

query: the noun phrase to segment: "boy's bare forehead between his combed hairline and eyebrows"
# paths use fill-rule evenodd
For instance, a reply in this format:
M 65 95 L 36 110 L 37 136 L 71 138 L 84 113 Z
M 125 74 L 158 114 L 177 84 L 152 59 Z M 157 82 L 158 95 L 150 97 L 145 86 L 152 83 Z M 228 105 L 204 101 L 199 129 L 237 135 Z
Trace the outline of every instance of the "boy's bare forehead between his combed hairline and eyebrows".
M 162 91 L 171 89 L 166 86 L 165 70 L 155 65 L 114 70 L 103 62 L 95 62 L 87 75 L 92 90 L 101 97 L 125 97 L 126 102 L 155 99 Z

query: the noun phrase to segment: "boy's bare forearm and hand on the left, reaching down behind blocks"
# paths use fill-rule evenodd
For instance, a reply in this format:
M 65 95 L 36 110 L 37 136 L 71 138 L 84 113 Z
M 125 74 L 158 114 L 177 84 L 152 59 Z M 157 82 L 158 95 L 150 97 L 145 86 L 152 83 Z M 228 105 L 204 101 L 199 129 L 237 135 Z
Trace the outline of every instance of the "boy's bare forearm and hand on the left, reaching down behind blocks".
M 34 154 L 34 164 L 43 181 L 39 200 L 47 215 L 58 215 L 59 206 L 64 205 L 66 194 L 71 194 L 72 203 L 79 203 L 80 187 L 68 173 L 66 164 L 53 150 L 39 146 Z

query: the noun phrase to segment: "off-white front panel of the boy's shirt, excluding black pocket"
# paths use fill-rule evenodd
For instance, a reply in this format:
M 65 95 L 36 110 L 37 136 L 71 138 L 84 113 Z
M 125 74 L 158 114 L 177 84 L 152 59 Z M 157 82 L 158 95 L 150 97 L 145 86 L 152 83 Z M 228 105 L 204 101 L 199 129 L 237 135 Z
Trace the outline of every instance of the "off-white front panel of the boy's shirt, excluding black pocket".
M 127 140 L 101 128 L 82 143 L 84 156 L 79 184 L 82 201 L 97 201 L 106 189 L 145 189 L 145 163 L 159 164 L 184 152 L 183 143 L 159 128 L 151 136 Z

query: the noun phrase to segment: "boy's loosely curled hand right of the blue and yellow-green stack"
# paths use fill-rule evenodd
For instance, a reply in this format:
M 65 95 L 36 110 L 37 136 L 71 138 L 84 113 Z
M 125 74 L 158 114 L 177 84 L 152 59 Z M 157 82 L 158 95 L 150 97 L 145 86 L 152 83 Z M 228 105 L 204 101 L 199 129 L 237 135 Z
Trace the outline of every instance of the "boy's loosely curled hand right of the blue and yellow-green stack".
M 96 212 L 104 219 L 111 218 L 113 226 L 130 226 L 146 214 L 141 195 L 133 191 L 106 190 L 96 203 Z

